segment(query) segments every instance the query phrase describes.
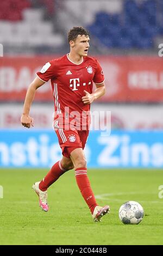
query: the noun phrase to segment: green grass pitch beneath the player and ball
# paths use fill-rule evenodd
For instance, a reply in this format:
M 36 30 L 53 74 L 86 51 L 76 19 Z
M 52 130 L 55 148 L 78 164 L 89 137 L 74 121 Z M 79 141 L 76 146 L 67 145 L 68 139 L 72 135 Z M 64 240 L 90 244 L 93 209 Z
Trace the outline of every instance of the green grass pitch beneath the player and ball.
M 74 178 L 65 173 L 48 190 L 49 211 L 39 208 L 32 184 L 45 176 L 45 169 L 1 169 L 1 245 L 162 245 L 162 170 L 88 169 L 99 205 L 110 205 L 102 222 L 92 221 Z M 138 225 L 124 225 L 118 209 L 127 200 L 139 202 L 145 211 Z

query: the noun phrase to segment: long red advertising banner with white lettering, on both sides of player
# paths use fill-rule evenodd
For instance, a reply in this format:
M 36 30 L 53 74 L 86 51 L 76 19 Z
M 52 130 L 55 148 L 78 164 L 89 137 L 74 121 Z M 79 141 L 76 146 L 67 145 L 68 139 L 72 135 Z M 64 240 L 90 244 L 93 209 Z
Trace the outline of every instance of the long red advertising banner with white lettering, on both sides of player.
M 23 101 L 36 71 L 58 56 L 1 57 L 0 100 Z M 163 58 L 152 56 L 96 56 L 105 75 L 104 102 L 163 101 Z M 39 88 L 35 101 L 53 101 L 50 82 Z

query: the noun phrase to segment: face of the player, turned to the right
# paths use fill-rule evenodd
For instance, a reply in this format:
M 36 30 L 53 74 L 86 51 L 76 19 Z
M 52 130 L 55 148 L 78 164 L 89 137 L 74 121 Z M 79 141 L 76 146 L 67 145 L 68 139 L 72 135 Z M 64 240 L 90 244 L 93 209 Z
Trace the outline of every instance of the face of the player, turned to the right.
M 76 40 L 74 41 L 74 51 L 80 56 L 87 56 L 87 51 L 89 50 L 89 36 L 78 35 Z

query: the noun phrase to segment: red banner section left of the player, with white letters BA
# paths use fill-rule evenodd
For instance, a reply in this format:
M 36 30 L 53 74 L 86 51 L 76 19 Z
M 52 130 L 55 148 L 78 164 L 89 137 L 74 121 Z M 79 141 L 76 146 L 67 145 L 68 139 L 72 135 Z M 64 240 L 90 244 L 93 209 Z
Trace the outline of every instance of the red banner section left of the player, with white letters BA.
M 48 61 L 49 57 L 38 56 L 0 58 L 0 100 L 23 101 L 36 72 Z M 53 101 L 49 82 L 37 90 L 35 100 Z

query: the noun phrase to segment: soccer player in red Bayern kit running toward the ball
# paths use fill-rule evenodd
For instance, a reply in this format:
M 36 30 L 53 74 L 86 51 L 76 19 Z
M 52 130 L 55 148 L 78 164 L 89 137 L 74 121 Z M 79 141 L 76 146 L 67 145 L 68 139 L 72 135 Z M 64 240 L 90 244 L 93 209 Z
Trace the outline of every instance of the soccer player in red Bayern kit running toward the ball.
M 24 101 L 21 123 L 30 128 L 33 118 L 29 111 L 36 89 L 51 80 L 54 96 L 54 130 L 62 150 L 62 159 L 55 163 L 45 178 L 33 185 L 39 204 L 48 211 L 47 188 L 67 170 L 75 169 L 80 192 L 89 206 L 94 221 L 109 213 L 109 206 L 99 206 L 87 177 L 84 147 L 89 135 L 90 104 L 104 95 L 104 75 L 97 59 L 87 57 L 89 32 L 83 27 L 73 27 L 68 32 L 70 53 L 46 63 L 30 84 Z M 93 82 L 96 84 L 92 92 Z M 75 117 L 74 117 L 75 116 Z M 75 119 L 75 122 L 74 122 Z M 72 125 L 73 124 L 73 125 Z

